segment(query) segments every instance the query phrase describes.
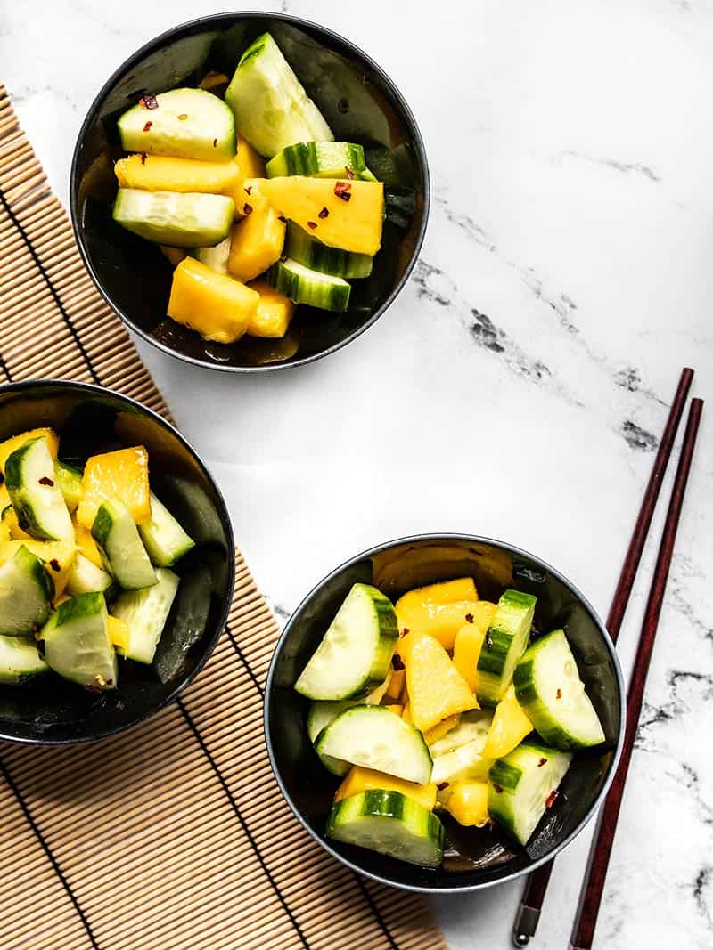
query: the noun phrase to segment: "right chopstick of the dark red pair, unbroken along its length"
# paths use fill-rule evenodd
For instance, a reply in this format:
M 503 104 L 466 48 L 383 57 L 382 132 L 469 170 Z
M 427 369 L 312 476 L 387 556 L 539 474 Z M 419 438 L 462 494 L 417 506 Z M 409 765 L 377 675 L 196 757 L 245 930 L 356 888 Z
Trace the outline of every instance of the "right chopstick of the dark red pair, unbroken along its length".
M 626 774 L 629 763 L 631 762 L 631 753 L 634 750 L 634 741 L 636 731 L 639 726 L 639 716 L 641 715 L 642 703 L 644 701 L 644 689 L 646 686 L 646 675 L 653 652 L 654 639 L 659 626 L 661 617 L 661 608 L 664 603 L 666 581 L 668 580 L 668 571 L 673 557 L 673 548 L 676 542 L 676 532 L 681 518 L 681 509 L 684 504 L 685 485 L 688 481 L 688 473 L 693 459 L 693 450 L 696 445 L 696 436 L 701 423 L 701 412 L 703 411 L 703 400 L 691 400 L 691 408 L 688 412 L 688 421 L 685 427 L 684 445 L 681 449 L 681 458 L 676 469 L 676 478 L 673 483 L 671 500 L 666 512 L 664 525 L 664 534 L 659 547 L 659 555 L 656 560 L 653 579 L 646 601 L 646 613 L 642 623 L 641 636 L 639 637 L 639 646 L 634 660 L 633 673 L 626 694 L 626 733 L 624 739 L 624 749 L 619 766 L 614 775 L 614 781 L 611 783 L 607 793 L 604 807 L 602 808 L 597 821 L 597 829 L 589 851 L 589 864 L 585 883 L 581 892 L 581 900 L 577 908 L 577 916 L 572 930 L 572 939 L 570 943 L 571 950 L 591 950 L 592 940 L 594 940 L 594 929 L 597 923 L 597 914 L 602 902 L 604 884 L 607 879 L 607 867 L 611 847 L 614 844 L 614 834 L 616 833 L 619 810 L 624 796 L 624 787 L 626 783 Z

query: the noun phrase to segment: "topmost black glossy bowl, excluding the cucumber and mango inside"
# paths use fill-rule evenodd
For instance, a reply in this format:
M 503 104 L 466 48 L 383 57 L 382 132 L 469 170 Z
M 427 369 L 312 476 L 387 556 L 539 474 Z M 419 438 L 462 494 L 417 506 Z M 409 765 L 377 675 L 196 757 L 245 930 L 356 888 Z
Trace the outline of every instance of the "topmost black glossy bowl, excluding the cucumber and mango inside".
M 209 70 L 233 74 L 242 51 L 269 30 L 337 140 L 364 145 L 384 180 L 387 218 L 374 272 L 353 282 L 350 308 L 328 314 L 299 307 L 282 340 L 206 342 L 165 315 L 171 267 L 155 245 L 114 224 L 112 161 L 123 154 L 116 121 L 146 92 L 196 85 Z M 426 230 L 429 174 L 409 106 L 369 57 L 328 29 L 278 13 L 222 13 L 163 33 L 126 60 L 82 125 L 69 186 L 74 232 L 89 274 L 128 326 L 164 352 L 212 370 L 299 366 L 363 333 L 403 287 Z

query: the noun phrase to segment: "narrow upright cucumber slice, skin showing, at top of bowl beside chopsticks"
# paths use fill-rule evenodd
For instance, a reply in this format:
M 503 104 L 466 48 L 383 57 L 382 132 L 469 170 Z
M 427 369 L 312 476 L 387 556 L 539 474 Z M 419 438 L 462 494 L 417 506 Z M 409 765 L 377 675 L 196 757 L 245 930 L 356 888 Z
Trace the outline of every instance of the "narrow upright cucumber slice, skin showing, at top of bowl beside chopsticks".
M 483 640 L 477 665 L 475 694 L 481 706 L 495 706 L 511 684 L 519 658 L 530 637 L 537 598 L 507 590 Z

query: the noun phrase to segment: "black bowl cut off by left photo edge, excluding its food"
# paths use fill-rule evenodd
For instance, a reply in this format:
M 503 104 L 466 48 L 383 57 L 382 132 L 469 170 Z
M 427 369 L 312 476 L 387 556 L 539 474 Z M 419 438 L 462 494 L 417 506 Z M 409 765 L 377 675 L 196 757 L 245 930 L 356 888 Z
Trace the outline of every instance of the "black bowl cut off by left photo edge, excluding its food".
M 86 742 L 142 722 L 181 693 L 202 668 L 230 607 L 233 532 L 221 492 L 201 459 L 175 428 L 140 403 L 82 383 L 47 380 L 0 387 L 0 441 L 40 426 L 59 433 L 60 457 L 67 461 L 81 462 L 112 448 L 145 446 L 151 487 L 197 542 L 174 570 L 183 576 L 207 566 L 212 578 L 202 637 L 172 679 L 162 682 L 152 667 L 120 659 L 118 688 L 106 693 L 87 693 L 54 674 L 24 686 L 0 685 L 0 739 L 46 745 Z M 175 612 L 166 621 L 162 644 L 166 637 L 170 643 L 174 621 Z

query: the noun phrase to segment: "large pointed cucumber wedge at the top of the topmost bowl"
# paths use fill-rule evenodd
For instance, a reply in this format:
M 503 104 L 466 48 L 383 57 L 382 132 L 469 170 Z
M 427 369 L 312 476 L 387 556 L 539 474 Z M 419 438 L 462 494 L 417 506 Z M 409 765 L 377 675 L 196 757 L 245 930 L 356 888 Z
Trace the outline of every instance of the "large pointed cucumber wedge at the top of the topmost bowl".
M 241 136 L 271 159 L 295 142 L 333 142 L 317 105 L 269 33 L 262 33 L 241 56 L 225 90 Z

